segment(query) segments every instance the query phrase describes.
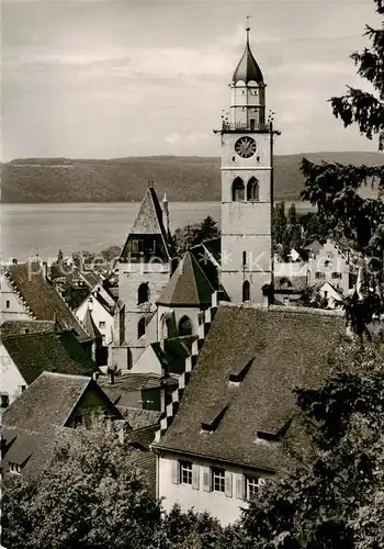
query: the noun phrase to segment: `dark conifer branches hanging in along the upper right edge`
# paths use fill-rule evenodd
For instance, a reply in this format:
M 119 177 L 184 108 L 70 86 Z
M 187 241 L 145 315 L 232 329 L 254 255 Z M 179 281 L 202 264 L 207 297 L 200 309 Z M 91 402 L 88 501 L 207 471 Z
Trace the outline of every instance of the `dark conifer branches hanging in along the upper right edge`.
M 376 13 L 384 14 L 382 0 L 374 0 Z M 330 103 L 336 117 L 345 126 L 357 124 L 360 133 L 372 139 L 379 137 L 379 149 L 384 145 L 384 27 L 365 27 L 372 47 L 353 53 L 352 60 L 358 74 L 370 82 L 373 92 L 348 87 L 342 97 L 332 97 Z M 306 158 L 302 160 L 302 172 L 306 178 L 302 192 L 304 200 L 317 205 L 318 212 L 330 223 L 335 236 L 352 239 L 357 249 L 383 256 L 383 238 L 377 238 L 377 228 L 384 222 L 384 202 L 380 199 L 362 198 L 360 189 L 369 183 L 384 190 L 384 166 L 343 166 L 323 163 L 317 166 Z

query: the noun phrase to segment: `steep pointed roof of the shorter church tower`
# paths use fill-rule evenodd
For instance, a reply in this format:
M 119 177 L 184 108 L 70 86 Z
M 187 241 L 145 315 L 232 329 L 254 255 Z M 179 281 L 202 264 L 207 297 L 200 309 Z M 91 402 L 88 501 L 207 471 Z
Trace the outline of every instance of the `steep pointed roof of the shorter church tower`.
M 133 235 L 160 235 L 166 253 L 171 257 L 170 242 L 162 221 L 162 210 L 154 187 L 148 187 L 145 193 L 121 257 L 127 255 L 128 242 Z

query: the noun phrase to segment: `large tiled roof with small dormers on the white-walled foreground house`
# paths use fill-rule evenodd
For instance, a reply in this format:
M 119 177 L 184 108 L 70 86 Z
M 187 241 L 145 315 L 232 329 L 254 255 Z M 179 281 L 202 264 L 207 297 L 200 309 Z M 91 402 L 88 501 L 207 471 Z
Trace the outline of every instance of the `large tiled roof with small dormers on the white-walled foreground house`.
M 295 408 L 292 390 L 319 386 L 343 333 L 341 313 L 221 304 L 178 413 L 154 448 L 275 469 L 280 445 L 258 433 L 278 436 Z

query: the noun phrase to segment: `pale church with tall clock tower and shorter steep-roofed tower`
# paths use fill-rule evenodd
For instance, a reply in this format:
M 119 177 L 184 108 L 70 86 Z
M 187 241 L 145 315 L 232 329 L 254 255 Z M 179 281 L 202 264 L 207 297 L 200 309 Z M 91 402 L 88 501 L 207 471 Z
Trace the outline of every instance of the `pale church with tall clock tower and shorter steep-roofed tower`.
M 118 261 L 118 307 L 112 356 L 121 369 L 134 367 L 153 343 L 154 335 L 156 340 L 161 339 L 159 320 L 155 332 L 150 326 L 158 316 L 156 312 L 165 305 L 161 294 L 167 295 L 168 316 L 176 311 L 173 335 L 197 335 L 196 315 L 212 305 L 215 291 L 219 298 L 234 303 L 261 304 L 262 288 L 272 287 L 274 131 L 272 122 L 266 120 L 266 88 L 250 49 L 247 29 L 246 48 L 230 82 L 229 113 L 223 119 L 221 130 L 215 131 L 222 139 L 221 264 L 218 268 L 217 264 L 214 266 L 218 284 L 212 287 L 208 280 L 212 277 L 204 272 L 204 265 L 196 262 L 197 254 L 194 256 L 193 250 L 188 258 L 176 257 L 167 198 L 160 204 L 149 182 Z M 211 268 L 214 259 L 208 261 Z M 196 293 L 211 293 L 211 296 L 202 302 L 190 295 L 184 299 L 185 303 L 172 298 L 174 285 L 187 288 L 188 284 L 192 284 Z M 179 314 L 181 310 L 183 315 Z M 181 321 L 187 330 L 180 326 Z

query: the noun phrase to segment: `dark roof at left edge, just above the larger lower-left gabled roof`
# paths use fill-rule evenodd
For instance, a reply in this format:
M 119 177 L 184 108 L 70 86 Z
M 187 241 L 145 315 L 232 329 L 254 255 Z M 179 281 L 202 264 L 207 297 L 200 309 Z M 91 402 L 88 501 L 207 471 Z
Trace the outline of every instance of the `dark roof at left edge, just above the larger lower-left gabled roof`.
M 91 376 L 98 370 L 70 332 L 5 336 L 2 344 L 27 384 L 43 371 Z

